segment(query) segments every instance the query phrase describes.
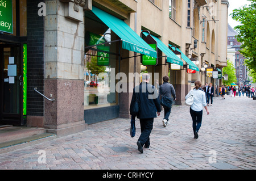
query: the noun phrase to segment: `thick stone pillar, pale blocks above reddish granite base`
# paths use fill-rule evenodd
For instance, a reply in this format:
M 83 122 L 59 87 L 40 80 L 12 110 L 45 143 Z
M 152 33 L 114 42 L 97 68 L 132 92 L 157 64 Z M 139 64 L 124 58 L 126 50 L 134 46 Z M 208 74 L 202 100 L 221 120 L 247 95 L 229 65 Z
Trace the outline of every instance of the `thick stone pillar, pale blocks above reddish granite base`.
M 46 1 L 44 128 L 57 136 L 86 129 L 84 121 L 84 10 L 80 1 Z M 82 2 L 82 1 L 81 1 Z

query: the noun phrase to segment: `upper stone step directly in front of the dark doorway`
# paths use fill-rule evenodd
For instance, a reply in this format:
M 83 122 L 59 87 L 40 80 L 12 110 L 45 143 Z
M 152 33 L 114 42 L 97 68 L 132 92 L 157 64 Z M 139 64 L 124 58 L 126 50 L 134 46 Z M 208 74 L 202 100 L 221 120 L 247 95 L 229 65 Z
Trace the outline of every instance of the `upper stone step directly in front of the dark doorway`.
M 21 138 L 31 137 L 38 134 L 46 133 L 44 128 L 30 127 L 2 127 L 0 128 L 0 144 L 3 142 L 15 141 Z

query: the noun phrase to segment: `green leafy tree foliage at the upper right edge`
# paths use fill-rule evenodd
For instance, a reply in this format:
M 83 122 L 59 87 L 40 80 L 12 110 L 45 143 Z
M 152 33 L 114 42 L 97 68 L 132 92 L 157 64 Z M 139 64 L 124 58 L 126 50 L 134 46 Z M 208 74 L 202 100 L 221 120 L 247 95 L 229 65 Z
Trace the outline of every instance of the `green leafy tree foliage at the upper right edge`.
M 234 27 L 237 41 L 242 43 L 240 53 L 247 59 L 245 65 L 251 74 L 256 74 L 256 0 L 247 0 L 250 5 L 233 10 L 232 18 L 241 23 Z

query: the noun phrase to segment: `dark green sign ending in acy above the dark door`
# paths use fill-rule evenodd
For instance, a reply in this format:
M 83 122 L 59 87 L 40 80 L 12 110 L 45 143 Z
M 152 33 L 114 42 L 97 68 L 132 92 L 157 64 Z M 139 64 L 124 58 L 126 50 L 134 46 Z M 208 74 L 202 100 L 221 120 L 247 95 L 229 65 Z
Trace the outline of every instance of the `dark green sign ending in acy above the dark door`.
M 0 0 L 0 31 L 13 33 L 12 0 Z

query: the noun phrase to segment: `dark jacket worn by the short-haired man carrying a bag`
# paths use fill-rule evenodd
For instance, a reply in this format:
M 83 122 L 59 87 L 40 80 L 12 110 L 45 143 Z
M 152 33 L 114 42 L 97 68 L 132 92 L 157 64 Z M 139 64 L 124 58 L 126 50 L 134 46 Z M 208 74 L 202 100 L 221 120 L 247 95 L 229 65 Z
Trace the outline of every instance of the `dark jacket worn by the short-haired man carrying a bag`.
M 139 119 L 154 118 L 156 111 L 161 112 L 159 96 L 154 86 L 142 82 L 139 86 L 134 87 L 131 105 L 135 102 L 136 94 L 141 105 L 140 113 L 137 116 Z

